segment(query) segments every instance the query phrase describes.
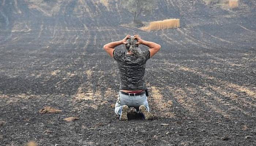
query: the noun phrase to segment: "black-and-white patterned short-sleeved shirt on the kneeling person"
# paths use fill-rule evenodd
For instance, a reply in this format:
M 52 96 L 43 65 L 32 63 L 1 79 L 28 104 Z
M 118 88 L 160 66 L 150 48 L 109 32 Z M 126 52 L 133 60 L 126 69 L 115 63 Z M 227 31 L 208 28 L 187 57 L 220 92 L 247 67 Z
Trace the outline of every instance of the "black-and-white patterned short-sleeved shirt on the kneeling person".
M 150 58 L 150 51 L 143 51 L 143 57 L 138 58 L 124 51 L 113 51 L 120 73 L 120 90 L 147 90 L 144 80 L 146 62 Z

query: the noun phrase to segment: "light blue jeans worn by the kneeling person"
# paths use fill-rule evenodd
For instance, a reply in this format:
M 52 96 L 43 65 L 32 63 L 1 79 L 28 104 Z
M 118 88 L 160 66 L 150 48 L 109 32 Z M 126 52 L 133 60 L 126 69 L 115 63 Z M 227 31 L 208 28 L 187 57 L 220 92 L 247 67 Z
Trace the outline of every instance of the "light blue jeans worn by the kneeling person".
M 147 96 L 146 94 L 133 96 L 133 93 L 129 95 L 124 95 L 121 92 L 118 93 L 118 98 L 115 106 L 115 113 L 120 116 L 122 112 L 123 105 L 127 105 L 128 107 L 134 107 L 137 111 L 139 111 L 140 105 L 145 105 L 147 110 L 149 111 Z

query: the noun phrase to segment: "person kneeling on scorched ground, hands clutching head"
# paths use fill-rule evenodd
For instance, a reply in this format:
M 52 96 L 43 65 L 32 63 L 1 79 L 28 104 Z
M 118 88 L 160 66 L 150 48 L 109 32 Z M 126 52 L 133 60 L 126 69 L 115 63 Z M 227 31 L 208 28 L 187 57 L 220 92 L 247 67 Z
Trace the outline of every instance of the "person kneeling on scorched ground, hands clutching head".
M 114 47 L 125 44 L 127 53 L 115 50 Z M 141 51 L 139 44 L 149 47 L 147 51 Z M 129 107 L 134 107 L 143 114 L 146 120 L 153 119 L 147 102 L 147 87 L 144 80 L 146 62 L 161 46 L 154 42 L 141 39 L 138 35 L 127 35 L 123 40 L 110 42 L 104 45 L 105 51 L 113 57 L 118 64 L 120 72 L 120 91 L 115 106 L 115 112 L 120 120 L 127 120 Z

